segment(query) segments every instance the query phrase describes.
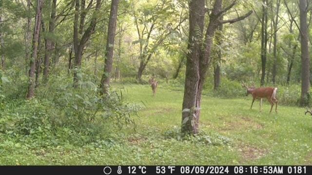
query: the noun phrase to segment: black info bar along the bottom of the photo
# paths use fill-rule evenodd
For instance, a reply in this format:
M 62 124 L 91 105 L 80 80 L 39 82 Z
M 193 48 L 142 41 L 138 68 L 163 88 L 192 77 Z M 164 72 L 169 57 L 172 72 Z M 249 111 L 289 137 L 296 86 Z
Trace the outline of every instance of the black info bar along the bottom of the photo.
M 311 175 L 312 166 L 0 166 L 1 175 Z

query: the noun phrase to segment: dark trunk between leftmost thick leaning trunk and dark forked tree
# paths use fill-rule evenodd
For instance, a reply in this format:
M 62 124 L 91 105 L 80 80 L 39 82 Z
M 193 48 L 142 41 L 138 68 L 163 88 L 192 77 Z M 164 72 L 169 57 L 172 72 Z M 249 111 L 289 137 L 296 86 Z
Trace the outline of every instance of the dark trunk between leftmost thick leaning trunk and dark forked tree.
M 44 78 L 45 83 L 48 81 L 48 78 L 49 78 L 50 54 L 51 54 L 52 46 L 54 45 L 51 39 L 51 35 L 54 34 L 56 8 L 57 8 L 57 0 L 53 0 L 51 17 L 49 21 L 49 36 L 45 38 L 45 53 L 44 53 L 44 62 L 43 62 L 44 64 L 43 78 Z

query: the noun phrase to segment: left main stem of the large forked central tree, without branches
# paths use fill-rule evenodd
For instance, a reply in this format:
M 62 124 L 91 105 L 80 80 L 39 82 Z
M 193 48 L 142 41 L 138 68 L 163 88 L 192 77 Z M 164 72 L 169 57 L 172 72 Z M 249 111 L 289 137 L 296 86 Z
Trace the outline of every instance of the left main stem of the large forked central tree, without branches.
M 196 121 L 194 119 L 196 116 L 194 114 L 196 110 L 196 98 L 199 83 L 199 60 L 201 49 L 200 41 L 202 40 L 204 29 L 205 0 L 189 1 L 189 11 L 190 22 L 188 50 L 191 52 L 186 56 L 186 72 L 181 124 L 181 132 L 183 134 L 195 134 L 197 132 L 197 128 L 195 128 L 194 122 Z

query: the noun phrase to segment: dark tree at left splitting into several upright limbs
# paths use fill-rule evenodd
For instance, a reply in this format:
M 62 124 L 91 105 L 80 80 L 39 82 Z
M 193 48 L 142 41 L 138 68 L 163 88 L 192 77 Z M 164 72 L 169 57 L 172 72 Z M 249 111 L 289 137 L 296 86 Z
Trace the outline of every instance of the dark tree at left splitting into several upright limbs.
M 97 25 L 98 16 L 97 13 L 99 11 L 99 8 L 101 7 L 101 0 L 97 0 L 95 12 L 92 15 L 92 18 L 90 20 L 89 27 L 84 31 L 83 33 L 83 25 L 84 25 L 84 19 L 85 19 L 85 13 L 87 12 L 86 9 L 84 9 L 84 3 L 85 0 L 82 0 L 81 9 L 80 11 L 80 0 L 75 0 L 75 17 L 74 17 L 74 50 L 75 50 L 75 68 L 81 67 L 81 58 L 82 53 L 84 50 L 84 46 L 86 42 L 90 39 L 91 35 L 95 31 L 95 27 Z M 93 0 L 89 2 L 88 7 L 91 8 Z M 80 14 L 80 22 L 79 22 L 79 14 Z M 78 23 L 80 24 L 78 28 Z M 79 34 L 82 35 L 79 39 Z M 78 83 L 78 77 L 77 77 L 77 70 L 74 72 L 74 87 L 77 86 Z

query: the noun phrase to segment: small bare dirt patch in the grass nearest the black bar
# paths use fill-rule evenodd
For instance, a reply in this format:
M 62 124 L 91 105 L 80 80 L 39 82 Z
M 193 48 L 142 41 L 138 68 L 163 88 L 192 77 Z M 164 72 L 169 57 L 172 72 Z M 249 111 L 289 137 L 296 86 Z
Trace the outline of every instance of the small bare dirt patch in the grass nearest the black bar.
M 263 157 L 267 153 L 267 150 L 265 149 L 261 149 L 248 144 L 239 145 L 237 150 L 241 153 L 244 160 L 258 159 L 260 157 Z

